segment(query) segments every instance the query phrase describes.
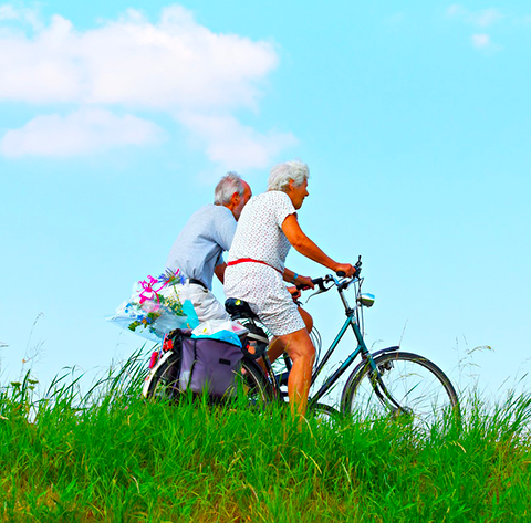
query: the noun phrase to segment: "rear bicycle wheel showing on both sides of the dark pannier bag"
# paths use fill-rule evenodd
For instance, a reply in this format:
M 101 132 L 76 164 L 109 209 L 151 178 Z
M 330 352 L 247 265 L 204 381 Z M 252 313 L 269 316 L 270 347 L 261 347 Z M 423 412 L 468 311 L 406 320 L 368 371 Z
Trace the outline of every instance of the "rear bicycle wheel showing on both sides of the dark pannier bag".
M 177 354 L 169 356 L 158 368 L 156 368 L 147 388 L 147 399 L 159 399 L 176 404 L 184 393 L 179 388 L 180 358 Z M 239 379 L 241 378 L 241 379 Z M 263 375 L 260 366 L 249 359 L 242 359 L 241 367 L 235 379 L 235 393 L 227 397 L 212 397 L 212 402 L 232 401 L 239 393 L 247 397 L 248 405 L 259 406 L 268 404 L 272 397 L 272 386 Z

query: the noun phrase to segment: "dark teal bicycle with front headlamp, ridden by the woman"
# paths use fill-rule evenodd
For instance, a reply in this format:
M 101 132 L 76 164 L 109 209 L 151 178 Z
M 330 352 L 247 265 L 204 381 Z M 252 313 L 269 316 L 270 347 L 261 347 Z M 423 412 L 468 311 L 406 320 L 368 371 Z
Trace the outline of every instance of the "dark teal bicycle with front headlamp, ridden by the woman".
M 327 274 L 312 280 L 317 291 L 310 297 L 335 287 L 346 315 L 345 322 L 334 341 L 321 362 L 315 365 L 312 374 L 312 386 L 321 376 L 348 327 L 354 333 L 357 346 L 340 367 L 324 380 L 317 391 L 309 398 L 309 410 L 326 416 L 337 412 L 336 409 L 321 402 L 321 400 L 360 356 L 361 362 L 346 379 L 341 395 L 340 411 L 342 414 L 355 415 L 361 420 L 374 416 L 391 416 L 393 418 L 408 418 L 416 423 L 428 425 L 440 421 L 447 414 L 459 417 L 460 410 L 456 389 L 446 374 L 433 362 L 414 353 L 402 352 L 399 346 L 386 347 L 374 353 L 368 351 L 363 337 L 363 308 L 373 306 L 375 299 L 372 294 L 362 293 L 364 279 L 360 275 L 362 269 L 361 257 L 355 266 L 356 272 L 350 278 L 337 273 L 335 276 Z M 354 289 L 355 297 L 353 307 L 345 296 L 351 286 Z M 258 317 L 251 311 L 249 304 L 242 300 L 229 299 L 226 302 L 226 307 L 232 320 L 244 322 L 250 331 L 243 348 L 244 358 L 239 374 L 249 401 L 252 405 L 285 401 L 287 394 L 281 387 L 288 383 L 291 368 L 290 358 L 284 354 L 285 372 L 274 372 L 267 356 L 264 332 L 258 324 Z M 257 341 L 258 343 L 254 343 Z M 259 358 L 263 358 L 266 372 L 258 365 L 257 360 Z M 168 386 L 171 389 L 170 385 L 174 377 L 171 377 L 170 370 L 171 364 L 169 362 L 168 366 L 153 378 L 152 396 L 156 394 L 157 386 L 160 384 L 164 384 L 166 389 Z

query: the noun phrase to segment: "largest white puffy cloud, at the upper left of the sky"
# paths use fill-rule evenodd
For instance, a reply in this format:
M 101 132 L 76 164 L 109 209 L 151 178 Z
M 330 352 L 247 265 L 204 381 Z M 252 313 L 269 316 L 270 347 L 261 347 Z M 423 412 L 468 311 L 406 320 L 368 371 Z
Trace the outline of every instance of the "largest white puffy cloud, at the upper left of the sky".
M 54 15 L 32 36 L 0 38 L 0 100 L 254 106 L 256 82 L 277 62 L 271 44 L 212 33 L 180 7 L 167 8 L 157 24 L 128 11 L 86 31 Z

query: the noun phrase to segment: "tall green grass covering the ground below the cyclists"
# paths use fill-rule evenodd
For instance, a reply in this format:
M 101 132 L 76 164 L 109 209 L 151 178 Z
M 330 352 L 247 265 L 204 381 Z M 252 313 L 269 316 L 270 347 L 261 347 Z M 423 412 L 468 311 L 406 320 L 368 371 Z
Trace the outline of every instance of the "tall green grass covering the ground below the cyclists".
M 3 389 L 3 521 L 531 520 L 528 396 L 470 396 L 460 431 L 311 417 L 299 431 L 287 409 L 145 402 L 143 367 L 84 395 L 70 375 L 39 400 L 28 376 Z

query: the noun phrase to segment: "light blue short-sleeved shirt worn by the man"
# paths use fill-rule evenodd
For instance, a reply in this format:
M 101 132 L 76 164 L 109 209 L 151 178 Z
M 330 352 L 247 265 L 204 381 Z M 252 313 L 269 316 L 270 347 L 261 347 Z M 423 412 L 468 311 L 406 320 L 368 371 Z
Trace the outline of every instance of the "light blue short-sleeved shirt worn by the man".
M 212 289 L 216 266 L 223 263 L 223 251 L 228 251 L 236 231 L 236 219 L 223 206 L 210 203 L 191 215 L 169 251 L 166 268 L 185 278 L 200 280 Z

